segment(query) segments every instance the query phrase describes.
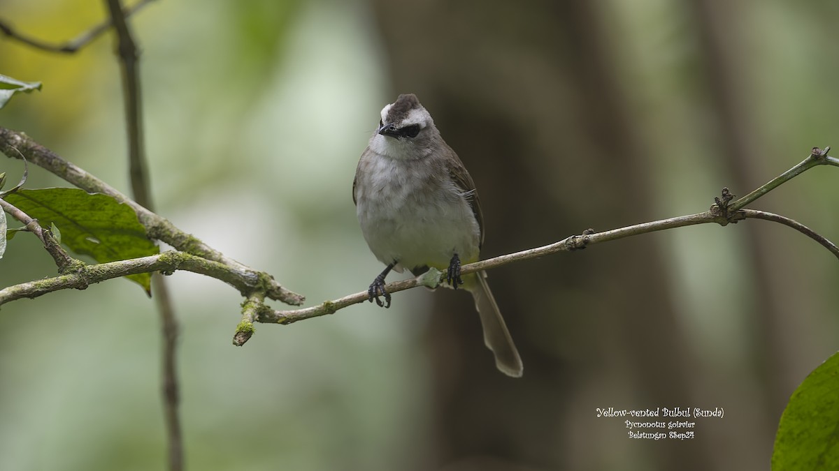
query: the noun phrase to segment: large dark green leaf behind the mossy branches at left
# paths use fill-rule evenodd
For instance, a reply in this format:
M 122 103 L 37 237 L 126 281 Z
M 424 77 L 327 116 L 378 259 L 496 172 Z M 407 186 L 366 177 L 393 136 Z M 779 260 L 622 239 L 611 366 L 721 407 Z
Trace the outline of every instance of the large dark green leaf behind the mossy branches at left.
M 146 237 L 137 213 L 107 194 L 74 188 L 20 189 L 5 199 L 42 227 L 60 226 L 65 246 L 100 263 L 159 253 L 158 246 Z M 128 278 L 150 292 L 149 273 Z

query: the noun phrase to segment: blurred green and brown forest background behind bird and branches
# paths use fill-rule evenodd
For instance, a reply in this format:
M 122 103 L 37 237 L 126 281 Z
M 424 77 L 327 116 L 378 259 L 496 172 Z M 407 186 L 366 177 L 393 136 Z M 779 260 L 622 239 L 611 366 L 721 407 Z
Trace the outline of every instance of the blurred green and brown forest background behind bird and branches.
M 106 11 L 0 0 L 0 16 L 58 42 Z M 309 304 L 361 291 L 381 267 L 352 176 L 411 91 L 477 183 L 485 257 L 699 212 L 839 146 L 837 19 L 823 1 L 155 2 L 131 19 L 154 200 Z M 74 55 L 0 39 L 0 73 L 44 82 L 0 125 L 128 191 L 110 34 Z M 836 240 L 837 179 L 816 168 L 753 207 Z M 28 188 L 61 184 L 30 168 Z M 53 274 L 31 235 L 0 260 L 0 286 Z M 259 324 L 234 348 L 238 293 L 169 282 L 190 469 L 765 469 L 789 394 L 839 341 L 836 260 L 759 220 L 493 270 L 521 380 L 494 370 L 461 292 Z M 4 305 L 0 468 L 163 468 L 159 329 L 122 280 Z M 639 441 L 596 417 L 609 406 L 726 417 Z

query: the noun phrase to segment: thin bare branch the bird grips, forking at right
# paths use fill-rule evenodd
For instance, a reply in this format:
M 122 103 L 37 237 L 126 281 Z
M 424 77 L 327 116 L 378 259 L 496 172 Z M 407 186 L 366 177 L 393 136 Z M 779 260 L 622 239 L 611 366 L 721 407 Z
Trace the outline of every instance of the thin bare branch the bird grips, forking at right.
M 677 227 L 685 227 L 687 225 L 708 223 L 728 225 L 729 223 L 737 223 L 740 220 L 748 218 L 771 220 L 787 225 L 819 242 L 822 246 L 825 246 L 827 250 L 831 251 L 833 255 L 839 258 L 839 248 L 837 248 L 833 242 L 827 240 L 826 237 L 817 234 L 814 230 L 810 230 L 807 226 L 781 215 L 775 215 L 765 211 L 741 209 L 745 204 L 752 203 L 754 200 L 763 196 L 763 194 L 769 193 L 772 189 L 779 187 L 780 184 L 784 184 L 784 182 L 789 181 L 789 179 L 795 178 L 795 176 L 805 172 L 805 170 L 809 168 L 816 167 L 816 165 L 839 166 L 839 159 L 832 158 L 827 155 L 829 150 L 830 148 L 825 148 L 824 150 L 821 150 L 820 148 L 813 148 L 810 156 L 805 158 L 804 161 L 782 173 L 779 177 L 772 179 L 767 184 L 763 184 L 763 186 L 755 189 L 752 193 L 741 199 L 737 199 L 734 203 L 731 202 L 733 196 L 728 189 L 722 189 L 722 198 L 715 198 L 716 203 L 711 206 L 710 210 L 703 213 L 678 216 L 675 218 L 656 220 L 636 225 L 628 225 L 626 227 L 606 230 L 603 232 L 594 232 L 589 229 L 583 231 L 581 235 L 571 235 L 561 241 L 547 246 L 541 246 L 534 249 L 469 263 L 461 267 L 461 273 L 465 275 L 466 273 L 489 270 L 491 268 L 501 267 L 502 265 L 512 263 L 513 261 L 529 260 L 531 258 L 538 258 L 540 256 L 546 256 L 560 251 L 581 250 L 586 248 L 586 246 L 607 241 L 617 241 L 618 239 L 623 239 L 632 235 L 648 234 L 658 230 L 675 229 Z M 444 276 L 445 273 L 442 273 L 435 268 L 430 268 L 428 272 L 425 272 L 425 274 L 420 275 L 419 277 L 409 278 L 399 282 L 390 282 L 385 286 L 385 290 L 387 292 L 399 292 L 418 286 L 436 287 L 443 281 Z M 336 313 L 340 309 L 347 308 L 353 304 L 363 303 L 364 301 L 367 301 L 367 299 L 367 291 L 363 291 L 332 301 L 326 301 L 310 308 L 291 310 L 263 309 L 258 312 L 257 321 L 262 323 L 289 324 L 307 318 L 315 318 Z

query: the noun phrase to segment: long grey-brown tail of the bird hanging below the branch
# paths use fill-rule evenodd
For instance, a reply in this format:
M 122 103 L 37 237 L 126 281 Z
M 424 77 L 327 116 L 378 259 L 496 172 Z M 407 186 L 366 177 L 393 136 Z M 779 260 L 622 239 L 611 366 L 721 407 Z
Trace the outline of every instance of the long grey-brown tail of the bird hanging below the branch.
M 519 357 L 519 350 L 513 344 L 513 338 L 507 330 L 507 324 L 498 311 L 498 304 L 492 298 L 492 292 L 487 285 L 487 272 L 477 272 L 469 275 L 471 280 L 466 281 L 466 289 L 472 292 L 475 298 L 475 308 L 481 316 L 483 326 L 483 343 L 495 355 L 495 366 L 505 375 L 518 378 L 522 375 L 524 365 Z M 473 282 L 474 281 L 474 282 Z

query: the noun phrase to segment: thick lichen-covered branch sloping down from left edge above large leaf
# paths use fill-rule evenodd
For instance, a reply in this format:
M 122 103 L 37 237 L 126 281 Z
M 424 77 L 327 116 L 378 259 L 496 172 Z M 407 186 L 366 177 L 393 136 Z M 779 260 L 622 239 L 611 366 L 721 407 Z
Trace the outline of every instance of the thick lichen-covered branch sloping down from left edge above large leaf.
M 265 296 L 269 299 L 292 305 L 300 305 L 305 301 L 305 297 L 280 286 L 274 280 L 274 277 L 268 273 L 253 270 L 225 256 L 220 251 L 216 251 L 210 246 L 207 246 L 194 235 L 187 234 L 183 230 L 178 229 L 169 220 L 137 204 L 133 199 L 128 198 L 128 196 L 120 193 L 109 184 L 97 179 L 91 173 L 87 173 L 84 169 L 60 158 L 58 154 L 52 152 L 50 149 L 44 148 L 38 142 L 34 142 L 23 132 L 15 132 L 6 127 L 0 127 L 0 152 L 6 154 L 9 158 L 18 158 L 13 151 L 19 151 L 29 163 L 34 163 L 41 168 L 45 168 L 61 179 L 89 193 L 108 194 L 120 203 L 128 204 L 137 212 L 138 219 L 145 226 L 146 234 L 149 235 L 149 238 L 164 241 L 179 251 L 185 251 L 209 261 L 217 261 L 223 265 L 227 265 L 232 270 L 250 274 L 253 279 L 249 280 L 248 285 L 263 289 Z

